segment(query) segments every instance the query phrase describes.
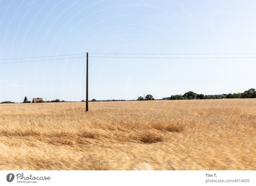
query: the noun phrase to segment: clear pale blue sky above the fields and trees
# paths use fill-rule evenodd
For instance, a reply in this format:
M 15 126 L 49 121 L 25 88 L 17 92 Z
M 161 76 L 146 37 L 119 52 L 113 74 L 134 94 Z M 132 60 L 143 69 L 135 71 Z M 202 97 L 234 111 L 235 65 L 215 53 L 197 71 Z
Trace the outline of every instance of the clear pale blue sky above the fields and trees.
M 252 0 L 0 0 L 0 59 L 85 52 L 256 52 L 255 7 Z M 78 56 L 83 55 L 64 57 Z M 256 54 L 181 57 L 228 56 Z M 37 58 L 20 59 L 26 60 Z M 190 90 L 208 95 L 243 92 L 256 88 L 255 60 L 89 57 L 89 99 L 162 98 Z M 81 101 L 85 70 L 85 58 L 0 64 L 0 102 L 21 102 L 25 96 Z

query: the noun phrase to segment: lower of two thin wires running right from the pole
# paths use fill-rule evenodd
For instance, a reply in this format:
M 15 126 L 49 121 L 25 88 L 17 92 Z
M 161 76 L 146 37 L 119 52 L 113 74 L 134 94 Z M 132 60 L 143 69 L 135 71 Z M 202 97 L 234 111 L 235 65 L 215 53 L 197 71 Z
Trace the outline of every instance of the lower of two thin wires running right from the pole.
M 173 58 L 173 57 L 109 57 L 109 56 L 89 56 L 91 58 L 154 58 L 154 59 L 212 59 L 212 58 L 256 58 L 256 57 L 202 57 L 202 58 Z

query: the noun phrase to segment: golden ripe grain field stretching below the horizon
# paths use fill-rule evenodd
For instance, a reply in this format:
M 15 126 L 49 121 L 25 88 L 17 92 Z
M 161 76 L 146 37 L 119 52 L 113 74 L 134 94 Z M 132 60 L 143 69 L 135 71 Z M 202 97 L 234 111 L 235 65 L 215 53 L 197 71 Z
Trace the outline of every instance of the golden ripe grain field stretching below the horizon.
M 256 170 L 255 101 L 0 104 L 0 169 Z

